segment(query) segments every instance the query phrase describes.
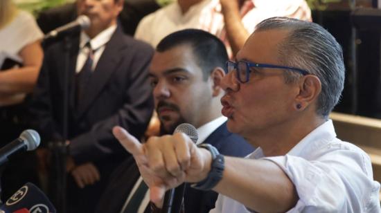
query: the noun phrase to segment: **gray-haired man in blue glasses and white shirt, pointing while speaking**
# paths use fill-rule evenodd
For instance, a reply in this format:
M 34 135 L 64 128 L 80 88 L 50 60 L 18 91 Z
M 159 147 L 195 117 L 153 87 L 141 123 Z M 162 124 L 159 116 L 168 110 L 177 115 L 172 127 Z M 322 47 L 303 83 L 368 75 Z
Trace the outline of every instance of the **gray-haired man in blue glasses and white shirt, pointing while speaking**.
M 266 19 L 227 66 L 222 114 L 229 131 L 258 147 L 247 158 L 222 156 L 181 133 L 141 145 L 114 128 L 157 207 L 166 189 L 188 182 L 220 193 L 211 212 L 380 212 L 369 156 L 336 138 L 328 118 L 345 71 L 330 33 L 306 21 Z

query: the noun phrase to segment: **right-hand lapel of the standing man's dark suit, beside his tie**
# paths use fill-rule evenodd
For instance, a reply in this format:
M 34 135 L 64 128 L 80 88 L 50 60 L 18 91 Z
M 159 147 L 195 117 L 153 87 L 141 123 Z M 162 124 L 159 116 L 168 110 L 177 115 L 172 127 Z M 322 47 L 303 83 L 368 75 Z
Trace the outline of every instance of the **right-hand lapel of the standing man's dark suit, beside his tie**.
M 123 33 L 120 28 L 116 28 L 109 42 L 107 42 L 94 73 L 91 75 L 88 85 L 85 89 L 84 99 L 78 106 L 78 117 L 83 115 L 91 106 L 91 103 L 98 97 L 98 94 L 103 91 L 103 88 L 109 81 L 109 78 L 117 70 L 117 66 L 123 55 L 119 51 L 127 46 L 123 41 Z

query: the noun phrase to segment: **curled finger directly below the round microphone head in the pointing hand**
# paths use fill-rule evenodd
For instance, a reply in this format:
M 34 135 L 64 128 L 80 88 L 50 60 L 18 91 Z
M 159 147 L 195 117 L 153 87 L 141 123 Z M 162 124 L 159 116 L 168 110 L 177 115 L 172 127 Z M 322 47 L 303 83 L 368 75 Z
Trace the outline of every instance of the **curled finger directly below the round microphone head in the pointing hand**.
M 177 161 L 182 170 L 188 169 L 190 166 L 190 149 L 189 146 L 193 145 L 193 142 L 184 133 L 175 133 L 173 135 L 177 142 L 175 142 L 175 150 Z

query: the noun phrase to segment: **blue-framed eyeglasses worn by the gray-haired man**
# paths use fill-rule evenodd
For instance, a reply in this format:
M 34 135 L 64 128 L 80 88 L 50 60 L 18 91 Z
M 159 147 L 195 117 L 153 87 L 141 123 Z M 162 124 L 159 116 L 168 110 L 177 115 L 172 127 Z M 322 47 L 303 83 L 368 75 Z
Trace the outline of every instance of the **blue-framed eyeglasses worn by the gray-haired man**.
M 308 71 L 305 71 L 301 68 L 295 68 L 295 67 L 290 67 L 290 66 L 278 66 L 278 65 L 273 65 L 273 64 L 258 64 L 258 63 L 254 63 L 254 62 L 247 62 L 244 60 L 241 60 L 238 62 L 227 61 L 227 73 L 230 73 L 232 71 L 237 71 L 237 79 L 242 84 L 249 82 L 249 77 L 250 77 L 250 72 L 251 72 L 250 67 L 282 68 L 282 69 L 286 69 L 288 71 L 300 73 L 301 75 L 310 74 Z

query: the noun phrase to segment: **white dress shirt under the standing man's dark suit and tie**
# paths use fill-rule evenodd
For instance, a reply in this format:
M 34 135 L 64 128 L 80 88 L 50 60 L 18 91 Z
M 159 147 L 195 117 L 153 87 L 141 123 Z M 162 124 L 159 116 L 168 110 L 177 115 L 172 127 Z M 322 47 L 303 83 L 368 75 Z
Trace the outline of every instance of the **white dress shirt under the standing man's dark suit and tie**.
M 111 39 L 112 35 L 116 30 L 116 24 L 109 26 L 109 28 L 100 32 L 96 37 L 90 39 L 90 37 L 85 33 L 80 33 L 80 51 L 78 52 L 77 57 L 77 65 L 76 65 L 76 73 L 79 73 L 82 70 L 83 65 L 87 60 L 87 56 L 89 55 L 89 48 L 85 46 L 87 42 L 90 41 L 91 48 L 94 51 L 94 59 L 93 64 L 91 66 L 92 71 L 95 70 L 96 64 L 98 64 L 99 58 L 105 50 L 105 45 Z

